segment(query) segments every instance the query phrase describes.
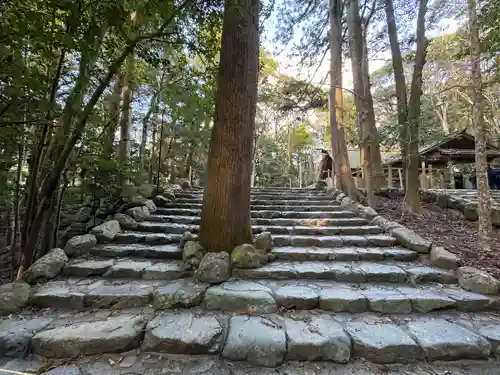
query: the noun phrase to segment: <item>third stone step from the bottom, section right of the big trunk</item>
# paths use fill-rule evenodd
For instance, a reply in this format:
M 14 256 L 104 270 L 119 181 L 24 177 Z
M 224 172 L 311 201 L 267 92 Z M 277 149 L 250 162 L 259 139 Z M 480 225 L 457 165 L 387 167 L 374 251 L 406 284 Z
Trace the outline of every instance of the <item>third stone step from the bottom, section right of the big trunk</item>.
M 259 268 L 238 268 L 233 276 L 243 279 L 329 279 L 353 283 L 454 284 L 453 272 L 410 262 L 274 261 Z

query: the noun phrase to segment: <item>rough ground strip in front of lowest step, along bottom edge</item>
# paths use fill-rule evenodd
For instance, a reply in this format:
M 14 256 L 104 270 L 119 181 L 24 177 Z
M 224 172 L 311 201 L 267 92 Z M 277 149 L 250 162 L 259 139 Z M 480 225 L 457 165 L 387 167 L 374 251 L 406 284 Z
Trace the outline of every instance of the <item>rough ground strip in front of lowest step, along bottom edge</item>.
M 315 345 L 316 347 L 317 345 Z M 498 356 L 497 356 L 498 357 Z M 354 358 L 354 357 L 351 357 Z M 450 362 L 418 362 L 411 364 L 377 364 L 364 359 L 354 360 L 349 363 L 339 364 L 326 361 L 289 361 L 279 368 L 269 371 L 259 365 L 248 362 L 235 362 L 220 358 L 219 355 L 179 356 L 176 354 L 151 353 L 132 351 L 128 353 L 108 353 L 103 356 L 82 356 L 71 362 L 51 367 L 49 372 L 44 372 L 47 362 L 40 357 L 29 356 L 26 358 L 1 358 L 0 368 L 17 373 L 36 373 L 42 375 L 82 375 L 82 374 L 162 374 L 167 368 L 175 369 L 178 374 L 268 374 L 274 375 L 423 375 L 423 374 L 489 374 L 498 375 L 498 362 L 488 360 L 450 361 Z M 124 368 L 126 370 L 124 370 Z M 209 372 L 204 371 L 209 369 Z M 362 372 L 360 372 L 362 369 Z M 87 370 L 87 371 L 86 371 Z M 90 372 L 88 372 L 90 371 Z M 5 375 L 10 375 L 6 373 Z M 3 375 L 3 374 L 2 374 Z

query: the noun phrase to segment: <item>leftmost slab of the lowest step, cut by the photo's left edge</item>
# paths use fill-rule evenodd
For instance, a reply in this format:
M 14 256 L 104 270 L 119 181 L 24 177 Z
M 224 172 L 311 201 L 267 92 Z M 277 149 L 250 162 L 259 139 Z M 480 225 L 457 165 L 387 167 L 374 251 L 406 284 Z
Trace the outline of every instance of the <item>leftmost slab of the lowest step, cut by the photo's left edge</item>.
M 29 350 L 33 335 L 44 329 L 51 319 L 5 319 L 0 320 L 0 353 L 6 357 L 24 357 Z M 0 374 L 1 374 L 0 370 Z

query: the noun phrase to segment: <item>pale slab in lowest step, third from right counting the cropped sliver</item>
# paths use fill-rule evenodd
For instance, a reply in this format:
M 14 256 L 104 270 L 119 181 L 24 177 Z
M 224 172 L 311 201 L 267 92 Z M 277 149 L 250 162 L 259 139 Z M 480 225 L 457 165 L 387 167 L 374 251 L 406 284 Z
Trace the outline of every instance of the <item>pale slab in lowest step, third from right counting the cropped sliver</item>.
M 417 343 L 395 324 L 350 322 L 346 328 L 357 357 L 376 363 L 408 363 L 421 358 Z

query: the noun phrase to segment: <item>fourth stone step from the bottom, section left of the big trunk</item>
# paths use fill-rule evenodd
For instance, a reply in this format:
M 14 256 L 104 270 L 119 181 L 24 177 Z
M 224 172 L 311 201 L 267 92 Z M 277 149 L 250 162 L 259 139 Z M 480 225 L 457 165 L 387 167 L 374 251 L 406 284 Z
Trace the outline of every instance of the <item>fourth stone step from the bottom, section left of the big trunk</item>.
M 182 259 L 182 250 L 177 245 L 102 245 L 91 249 L 90 254 L 105 258 Z

